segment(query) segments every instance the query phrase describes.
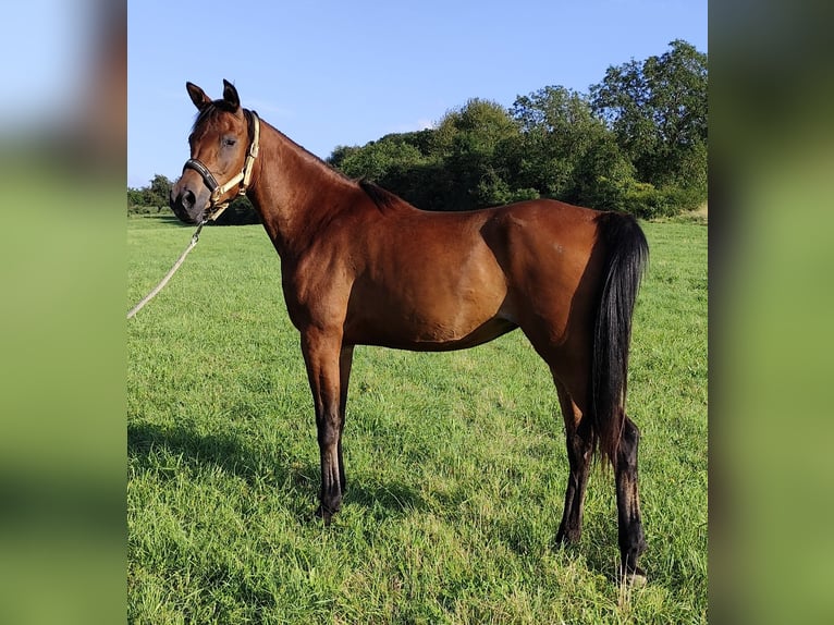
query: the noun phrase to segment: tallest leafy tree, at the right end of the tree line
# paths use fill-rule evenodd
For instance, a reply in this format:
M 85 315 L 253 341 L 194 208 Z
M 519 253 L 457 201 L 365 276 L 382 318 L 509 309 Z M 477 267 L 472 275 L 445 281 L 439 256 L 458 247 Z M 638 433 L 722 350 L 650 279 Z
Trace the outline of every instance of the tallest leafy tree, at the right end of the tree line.
M 707 54 L 680 39 L 670 46 L 660 57 L 609 68 L 591 87 L 592 107 L 639 180 L 706 194 Z

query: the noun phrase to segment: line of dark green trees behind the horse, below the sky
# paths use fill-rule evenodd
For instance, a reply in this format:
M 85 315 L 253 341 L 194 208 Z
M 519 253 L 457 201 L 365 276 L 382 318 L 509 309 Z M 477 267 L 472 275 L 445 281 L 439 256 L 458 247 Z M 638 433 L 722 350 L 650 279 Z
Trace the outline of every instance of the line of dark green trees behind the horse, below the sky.
M 707 198 L 707 54 L 677 39 L 661 56 L 610 66 L 587 94 L 548 86 L 510 108 L 474 98 L 434 127 L 339 146 L 327 162 L 427 210 L 552 197 L 671 216 Z M 157 206 L 158 179 L 128 189 L 128 209 Z

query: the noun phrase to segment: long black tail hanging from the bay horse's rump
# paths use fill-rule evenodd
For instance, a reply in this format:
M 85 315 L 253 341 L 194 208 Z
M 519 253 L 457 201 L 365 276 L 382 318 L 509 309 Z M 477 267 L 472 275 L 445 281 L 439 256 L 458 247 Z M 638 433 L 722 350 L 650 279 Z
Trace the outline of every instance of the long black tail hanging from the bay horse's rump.
M 628 387 L 631 315 L 649 244 L 630 215 L 604 212 L 597 223 L 605 265 L 593 334 L 591 407 L 598 450 L 616 467 Z

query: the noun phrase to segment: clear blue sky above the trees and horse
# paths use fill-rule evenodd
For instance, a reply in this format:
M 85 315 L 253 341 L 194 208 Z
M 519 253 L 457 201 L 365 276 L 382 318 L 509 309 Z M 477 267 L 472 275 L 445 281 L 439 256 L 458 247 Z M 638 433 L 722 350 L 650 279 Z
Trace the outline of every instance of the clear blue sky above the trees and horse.
M 128 2 L 127 184 L 172 180 L 196 110 L 185 82 L 321 158 L 415 131 L 469 98 L 510 107 L 548 85 L 587 93 L 610 65 L 708 52 L 707 0 Z

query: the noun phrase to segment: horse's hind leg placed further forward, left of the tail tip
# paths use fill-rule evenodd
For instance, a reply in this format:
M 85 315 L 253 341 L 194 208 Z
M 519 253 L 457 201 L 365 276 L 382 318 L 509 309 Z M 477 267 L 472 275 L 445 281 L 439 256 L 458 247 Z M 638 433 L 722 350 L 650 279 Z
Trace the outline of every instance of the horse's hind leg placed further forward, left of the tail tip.
M 576 405 L 565 387 L 554 377 L 562 417 L 565 421 L 565 442 L 571 473 L 565 489 L 565 506 L 562 523 L 556 532 L 560 544 L 576 543 L 582 534 L 582 512 L 585 491 L 593 452 L 593 438 L 589 419 L 582 418 L 582 412 Z

